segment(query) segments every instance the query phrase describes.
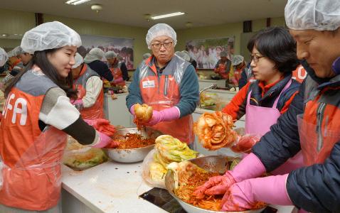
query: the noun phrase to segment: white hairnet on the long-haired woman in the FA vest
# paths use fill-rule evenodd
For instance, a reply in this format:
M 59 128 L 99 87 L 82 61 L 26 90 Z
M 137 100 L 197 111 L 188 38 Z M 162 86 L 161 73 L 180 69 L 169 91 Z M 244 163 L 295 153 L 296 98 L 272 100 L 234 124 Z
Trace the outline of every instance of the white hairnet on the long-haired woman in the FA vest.
M 58 21 L 42 23 L 27 31 L 21 40 L 21 48 L 26 53 L 63 48 L 67 45 L 80 47 L 80 35 Z

